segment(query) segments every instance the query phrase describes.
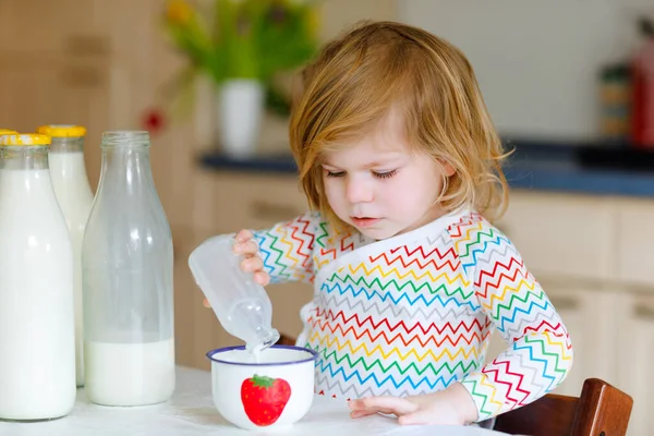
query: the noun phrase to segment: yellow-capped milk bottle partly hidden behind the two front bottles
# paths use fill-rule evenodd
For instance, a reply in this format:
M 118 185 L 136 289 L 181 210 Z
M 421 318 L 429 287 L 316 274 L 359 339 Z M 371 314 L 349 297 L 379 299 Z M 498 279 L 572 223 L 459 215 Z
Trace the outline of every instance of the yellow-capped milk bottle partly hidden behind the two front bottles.
M 50 179 L 73 244 L 75 295 L 75 367 L 77 386 L 84 386 L 84 354 L 82 352 L 82 240 L 93 203 L 84 165 L 86 129 L 78 125 L 41 125 L 38 133 L 52 138 L 48 159 Z

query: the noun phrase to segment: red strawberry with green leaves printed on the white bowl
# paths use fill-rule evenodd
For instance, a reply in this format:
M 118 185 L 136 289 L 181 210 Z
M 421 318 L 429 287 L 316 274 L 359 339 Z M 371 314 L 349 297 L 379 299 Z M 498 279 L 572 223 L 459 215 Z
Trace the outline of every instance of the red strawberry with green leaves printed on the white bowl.
M 241 401 L 254 424 L 274 424 L 291 398 L 291 386 L 282 378 L 254 375 L 241 384 Z

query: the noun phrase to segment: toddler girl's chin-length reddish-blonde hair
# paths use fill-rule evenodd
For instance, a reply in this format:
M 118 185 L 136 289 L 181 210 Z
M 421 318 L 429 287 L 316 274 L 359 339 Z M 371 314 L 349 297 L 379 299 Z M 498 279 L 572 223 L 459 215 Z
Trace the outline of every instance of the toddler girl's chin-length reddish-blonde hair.
M 323 153 L 365 133 L 393 108 L 407 140 L 455 174 L 444 184 L 446 210 L 472 207 L 497 218 L 508 203 L 507 156 L 473 69 L 451 44 L 392 22 L 363 23 L 325 46 L 302 73 L 290 143 L 312 209 L 342 228 L 323 185 Z

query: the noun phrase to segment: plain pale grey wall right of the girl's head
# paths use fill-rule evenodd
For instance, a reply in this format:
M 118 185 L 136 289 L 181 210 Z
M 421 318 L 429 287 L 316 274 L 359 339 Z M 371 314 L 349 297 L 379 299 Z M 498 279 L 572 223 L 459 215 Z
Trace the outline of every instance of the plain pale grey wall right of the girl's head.
M 633 46 L 653 0 L 399 0 L 399 19 L 445 37 L 472 62 L 500 132 L 584 138 L 597 131 L 600 65 Z

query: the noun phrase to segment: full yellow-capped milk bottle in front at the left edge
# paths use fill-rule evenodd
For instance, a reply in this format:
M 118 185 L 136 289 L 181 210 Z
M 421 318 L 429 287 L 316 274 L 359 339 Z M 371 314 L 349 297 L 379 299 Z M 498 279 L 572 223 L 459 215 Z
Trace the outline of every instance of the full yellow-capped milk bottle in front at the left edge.
M 0 136 L 0 419 L 48 420 L 75 402 L 73 252 L 46 135 Z

